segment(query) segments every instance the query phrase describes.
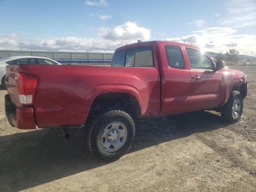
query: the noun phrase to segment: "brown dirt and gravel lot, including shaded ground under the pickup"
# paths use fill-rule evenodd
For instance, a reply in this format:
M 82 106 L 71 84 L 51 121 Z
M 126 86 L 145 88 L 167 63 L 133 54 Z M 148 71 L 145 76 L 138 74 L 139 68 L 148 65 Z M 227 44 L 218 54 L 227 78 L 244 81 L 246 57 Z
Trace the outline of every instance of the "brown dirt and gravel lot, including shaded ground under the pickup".
M 101 162 L 84 150 L 82 130 L 19 130 L 4 116 L 0 91 L 0 191 L 256 191 L 256 67 L 236 124 L 217 112 L 136 122 L 128 154 Z

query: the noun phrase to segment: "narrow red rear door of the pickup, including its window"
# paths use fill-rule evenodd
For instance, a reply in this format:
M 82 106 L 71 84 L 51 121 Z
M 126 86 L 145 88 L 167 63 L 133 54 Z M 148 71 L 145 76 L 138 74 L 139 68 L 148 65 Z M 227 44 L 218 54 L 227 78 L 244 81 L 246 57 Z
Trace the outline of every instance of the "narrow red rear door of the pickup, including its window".
M 158 44 L 161 59 L 162 113 L 183 112 L 189 108 L 191 77 L 184 51 L 177 44 Z

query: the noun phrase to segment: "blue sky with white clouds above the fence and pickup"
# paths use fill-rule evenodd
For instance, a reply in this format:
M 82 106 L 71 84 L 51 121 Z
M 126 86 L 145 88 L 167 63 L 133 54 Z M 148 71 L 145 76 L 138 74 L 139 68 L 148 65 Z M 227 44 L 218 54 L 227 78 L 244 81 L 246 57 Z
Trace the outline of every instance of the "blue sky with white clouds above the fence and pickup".
M 0 49 L 114 52 L 137 40 L 256 56 L 256 0 L 0 0 Z

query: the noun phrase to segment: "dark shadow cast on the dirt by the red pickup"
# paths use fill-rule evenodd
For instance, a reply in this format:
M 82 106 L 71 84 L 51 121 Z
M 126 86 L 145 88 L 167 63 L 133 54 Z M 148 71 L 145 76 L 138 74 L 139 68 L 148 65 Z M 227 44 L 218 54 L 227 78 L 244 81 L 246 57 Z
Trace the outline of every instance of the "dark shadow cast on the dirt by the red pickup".
M 129 152 L 227 125 L 207 111 L 145 118 L 136 121 L 136 137 Z M 0 137 L 0 191 L 24 190 L 106 164 L 84 150 L 83 130 L 72 129 L 69 140 L 64 140 L 58 129 Z

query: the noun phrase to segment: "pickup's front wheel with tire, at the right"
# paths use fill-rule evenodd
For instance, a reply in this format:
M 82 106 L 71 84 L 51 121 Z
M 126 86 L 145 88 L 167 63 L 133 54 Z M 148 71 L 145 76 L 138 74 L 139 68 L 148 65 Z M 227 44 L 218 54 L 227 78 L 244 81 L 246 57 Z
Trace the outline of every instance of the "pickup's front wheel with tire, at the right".
M 235 123 L 241 118 L 243 108 L 242 95 L 239 91 L 232 91 L 228 102 L 220 108 L 220 114 L 226 122 Z

